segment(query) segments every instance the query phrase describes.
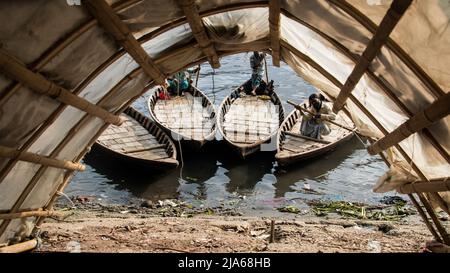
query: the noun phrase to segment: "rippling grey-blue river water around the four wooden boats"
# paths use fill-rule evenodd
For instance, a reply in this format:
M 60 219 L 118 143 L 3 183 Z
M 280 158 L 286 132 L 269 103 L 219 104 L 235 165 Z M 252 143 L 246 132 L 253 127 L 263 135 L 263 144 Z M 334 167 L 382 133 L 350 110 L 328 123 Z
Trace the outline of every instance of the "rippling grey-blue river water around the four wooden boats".
M 218 106 L 250 77 L 249 57 L 246 53 L 223 58 L 215 72 L 203 64 L 198 87 Z M 268 65 L 285 116 L 292 110 L 286 100 L 301 102 L 316 91 L 286 64 L 273 67 L 269 57 Z M 148 94 L 133 106 L 148 115 L 146 97 Z M 273 153 L 241 160 L 222 141 L 205 148 L 198 154 L 184 154 L 182 170 L 165 173 L 130 168 L 90 153 L 83 160 L 86 171 L 77 173 L 65 192 L 115 204 L 179 198 L 193 205 L 239 206 L 244 211 L 266 212 L 286 204 L 301 207 L 311 199 L 377 203 L 383 197 L 373 193 L 372 187 L 387 166 L 378 156 L 370 156 L 356 137 L 323 157 L 289 168 L 279 167 Z M 305 190 L 308 188 L 311 190 Z

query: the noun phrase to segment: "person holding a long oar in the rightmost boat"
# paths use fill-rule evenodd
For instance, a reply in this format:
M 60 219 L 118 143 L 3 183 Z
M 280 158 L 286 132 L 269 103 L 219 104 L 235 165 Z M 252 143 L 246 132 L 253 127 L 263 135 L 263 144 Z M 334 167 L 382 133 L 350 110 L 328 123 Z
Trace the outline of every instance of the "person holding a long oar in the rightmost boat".
M 326 120 L 335 120 L 336 114 L 333 113 L 328 100 L 322 94 L 312 94 L 309 96 L 309 106 L 307 108 L 314 115 L 303 112 L 300 133 L 307 137 L 321 139 L 331 133 L 331 129 Z

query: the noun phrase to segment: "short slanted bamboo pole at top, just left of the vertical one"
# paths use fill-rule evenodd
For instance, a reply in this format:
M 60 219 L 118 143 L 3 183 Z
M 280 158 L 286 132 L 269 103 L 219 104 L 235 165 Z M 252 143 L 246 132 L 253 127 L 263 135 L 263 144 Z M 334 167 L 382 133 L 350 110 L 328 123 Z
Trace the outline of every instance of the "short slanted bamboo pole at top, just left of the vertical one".
M 205 26 L 203 25 L 202 18 L 200 17 L 199 11 L 195 4 L 195 0 L 178 0 L 181 8 L 183 9 L 186 20 L 191 27 L 192 34 L 198 42 L 203 54 L 208 57 L 208 62 L 212 68 L 219 68 L 219 56 L 217 55 L 216 49 L 209 39 L 206 33 Z

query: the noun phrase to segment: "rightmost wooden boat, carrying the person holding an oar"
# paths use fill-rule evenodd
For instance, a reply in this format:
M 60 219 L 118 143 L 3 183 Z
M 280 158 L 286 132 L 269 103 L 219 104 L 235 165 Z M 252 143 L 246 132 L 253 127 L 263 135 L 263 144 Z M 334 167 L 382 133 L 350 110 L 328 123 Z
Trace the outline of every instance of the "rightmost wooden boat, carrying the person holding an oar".
M 343 111 L 337 114 L 334 121 L 350 128 L 355 127 Z M 275 155 L 279 165 L 289 165 L 323 155 L 353 136 L 351 131 L 329 124 L 331 129 L 329 135 L 323 136 L 321 140 L 308 139 L 300 134 L 301 123 L 302 115 L 299 110 L 294 109 L 281 124 L 278 130 L 277 153 Z

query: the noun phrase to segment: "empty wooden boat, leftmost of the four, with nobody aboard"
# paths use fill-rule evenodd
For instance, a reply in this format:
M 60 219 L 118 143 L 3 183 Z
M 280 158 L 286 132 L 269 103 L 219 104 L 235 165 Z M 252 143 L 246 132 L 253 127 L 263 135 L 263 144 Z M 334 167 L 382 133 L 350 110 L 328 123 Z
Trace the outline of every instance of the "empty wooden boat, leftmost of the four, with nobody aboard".
M 96 148 L 134 165 L 157 170 L 178 166 L 173 141 L 150 118 L 132 107 L 121 117 L 125 122 L 110 125 L 96 141 Z

